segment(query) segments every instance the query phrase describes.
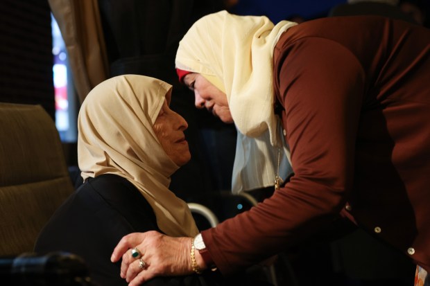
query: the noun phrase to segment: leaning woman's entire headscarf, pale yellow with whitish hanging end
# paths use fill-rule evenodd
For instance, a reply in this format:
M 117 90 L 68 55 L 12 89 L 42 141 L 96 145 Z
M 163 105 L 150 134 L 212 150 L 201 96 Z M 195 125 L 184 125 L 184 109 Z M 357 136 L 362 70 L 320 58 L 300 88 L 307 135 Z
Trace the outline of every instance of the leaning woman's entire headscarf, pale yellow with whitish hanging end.
M 295 25 L 221 11 L 196 21 L 179 44 L 176 67 L 200 73 L 227 95 L 238 129 L 235 193 L 273 186 L 277 150 L 272 146 L 282 152 L 279 175 L 285 179 L 291 172 L 285 160 L 289 151 L 277 132 L 280 123 L 273 111 L 273 49 L 282 33 Z

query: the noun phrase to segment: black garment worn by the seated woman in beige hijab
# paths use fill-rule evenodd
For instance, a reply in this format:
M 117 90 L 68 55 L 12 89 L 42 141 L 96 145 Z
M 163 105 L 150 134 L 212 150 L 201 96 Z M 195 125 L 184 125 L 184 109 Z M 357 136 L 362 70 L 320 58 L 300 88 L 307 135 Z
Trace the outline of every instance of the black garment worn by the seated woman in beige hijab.
M 77 254 L 87 263 L 96 285 L 126 286 L 119 276 L 120 262 L 110 262 L 112 251 L 123 235 L 151 230 L 160 231 L 153 209 L 139 190 L 123 177 L 101 175 L 87 179 L 55 212 L 37 238 L 35 252 Z M 227 281 L 217 271 L 206 271 L 201 276 L 154 278 L 145 285 L 252 285 L 244 278 Z

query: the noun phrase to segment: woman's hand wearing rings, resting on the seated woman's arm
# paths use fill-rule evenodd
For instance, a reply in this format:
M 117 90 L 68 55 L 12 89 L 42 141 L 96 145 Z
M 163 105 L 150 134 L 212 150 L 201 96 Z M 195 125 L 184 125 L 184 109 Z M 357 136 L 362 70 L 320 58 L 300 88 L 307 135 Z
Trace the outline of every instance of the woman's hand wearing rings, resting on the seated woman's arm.
M 132 257 L 133 248 L 139 251 L 139 257 Z M 121 278 L 135 286 L 155 276 L 192 274 L 190 251 L 191 238 L 171 238 L 157 231 L 130 233 L 119 241 L 110 260 L 117 262 L 122 257 Z

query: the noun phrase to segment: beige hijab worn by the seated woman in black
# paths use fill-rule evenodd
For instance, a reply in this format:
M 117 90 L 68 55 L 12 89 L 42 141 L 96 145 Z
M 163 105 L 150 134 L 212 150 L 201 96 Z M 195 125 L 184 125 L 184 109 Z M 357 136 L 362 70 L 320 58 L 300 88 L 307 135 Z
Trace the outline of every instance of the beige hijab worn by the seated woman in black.
M 171 85 L 143 75 L 98 84 L 78 116 L 78 163 L 83 179 L 115 174 L 128 179 L 152 206 L 157 225 L 171 236 L 198 233 L 187 204 L 170 190 L 178 170 L 158 142 L 153 124 Z

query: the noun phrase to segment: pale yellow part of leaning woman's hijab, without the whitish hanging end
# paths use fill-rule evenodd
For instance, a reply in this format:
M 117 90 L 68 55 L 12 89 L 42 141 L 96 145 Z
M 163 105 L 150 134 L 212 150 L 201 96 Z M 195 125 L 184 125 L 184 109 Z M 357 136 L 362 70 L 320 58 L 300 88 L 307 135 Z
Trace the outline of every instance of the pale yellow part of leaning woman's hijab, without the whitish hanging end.
M 257 137 L 267 129 L 277 142 L 273 112 L 273 48 L 296 23 L 276 26 L 267 17 L 237 16 L 226 11 L 207 15 L 189 29 L 179 44 L 178 69 L 200 73 L 227 95 L 241 134 Z

